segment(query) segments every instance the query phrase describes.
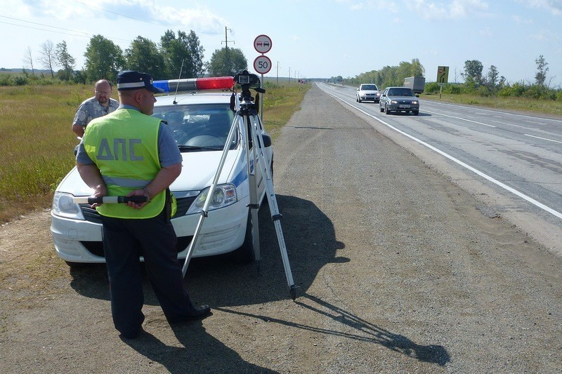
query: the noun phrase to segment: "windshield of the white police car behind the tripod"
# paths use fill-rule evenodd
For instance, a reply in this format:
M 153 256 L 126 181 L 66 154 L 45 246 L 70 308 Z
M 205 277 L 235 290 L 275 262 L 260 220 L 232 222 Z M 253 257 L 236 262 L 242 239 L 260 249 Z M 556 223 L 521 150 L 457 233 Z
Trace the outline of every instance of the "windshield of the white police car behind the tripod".
M 155 107 L 154 114 L 166 121 L 182 152 L 224 148 L 234 112 L 228 104 Z M 230 148 L 238 142 L 238 134 Z

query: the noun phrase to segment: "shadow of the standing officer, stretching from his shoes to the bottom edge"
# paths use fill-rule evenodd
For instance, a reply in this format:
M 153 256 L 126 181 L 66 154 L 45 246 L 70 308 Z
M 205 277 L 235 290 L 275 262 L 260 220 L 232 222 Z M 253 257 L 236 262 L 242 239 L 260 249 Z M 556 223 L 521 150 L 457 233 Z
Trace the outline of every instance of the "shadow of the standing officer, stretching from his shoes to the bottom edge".
M 171 374 L 277 373 L 244 361 L 233 349 L 209 335 L 201 321 L 172 325 L 171 328 L 183 347 L 166 345 L 147 331 L 134 340 L 123 341 L 148 360 L 162 364 Z

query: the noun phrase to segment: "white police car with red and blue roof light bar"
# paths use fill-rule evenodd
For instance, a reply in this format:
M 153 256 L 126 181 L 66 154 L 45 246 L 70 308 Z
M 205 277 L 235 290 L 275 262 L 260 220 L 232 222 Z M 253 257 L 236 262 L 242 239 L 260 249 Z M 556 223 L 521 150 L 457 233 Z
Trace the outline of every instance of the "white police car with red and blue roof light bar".
M 164 83 L 163 83 L 164 82 Z M 180 89 L 229 89 L 232 77 L 219 79 L 181 79 L 155 81 L 155 86 L 169 84 L 169 91 Z M 182 87 L 183 86 L 183 87 Z M 240 108 L 240 98 L 232 93 L 183 93 L 157 96 L 153 116 L 168 123 L 183 156 L 181 175 L 170 186 L 178 209 L 171 222 L 178 236 L 178 258 L 185 258 L 187 248 L 200 220 L 207 192 L 218 170 L 227 136 Z M 217 188 L 214 191 L 208 217 L 204 219 L 192 257 L 218 255 L 238 251 L 240 258 L 254 259 L 251 214 L 249 212 L 249 174 L 254 173 L 254 160 L 247 157 L 242 116 L 238 119 L 235 136 L 230 142 Z M 266 159 L 273 172 L 273 149 L 270 137 L 257 121 L 266 145 Z M 251 139 L 251 138 L 250 138 Z M 251 147 L 251 142 L 250 142 Z M 249 168 L 247 167 L 249 159 Z M 259 202 L 265 195 L 265 175 L 255 168 Z M 81 180 L 76 168 L 58 185 L 51 210 L 51 236 L 56 253 L 69 265 L 78 262 L 105 262 L 102 230 L 98 213 L 88 204 L 73 202 L 74 196 L 91 196 L 93 191 Z

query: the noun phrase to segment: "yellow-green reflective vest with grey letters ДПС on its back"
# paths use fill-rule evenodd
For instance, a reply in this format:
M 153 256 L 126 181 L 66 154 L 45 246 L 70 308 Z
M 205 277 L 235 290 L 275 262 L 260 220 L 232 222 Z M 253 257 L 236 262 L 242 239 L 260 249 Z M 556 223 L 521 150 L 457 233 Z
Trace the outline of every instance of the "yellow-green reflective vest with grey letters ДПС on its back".
M 160 119 L 134 109 L 117 109 L 88 124 L 84 149 L 100 169 L 107 196 L 125 196 L 155 178 L 162 168 L 158 159 L 159 126 Z M 152 196 L 142 209 L 107 203 L 98 206 L 98 213 L 114 218 L 152 218 L 162 212 L 166 193 L 164 190 Z

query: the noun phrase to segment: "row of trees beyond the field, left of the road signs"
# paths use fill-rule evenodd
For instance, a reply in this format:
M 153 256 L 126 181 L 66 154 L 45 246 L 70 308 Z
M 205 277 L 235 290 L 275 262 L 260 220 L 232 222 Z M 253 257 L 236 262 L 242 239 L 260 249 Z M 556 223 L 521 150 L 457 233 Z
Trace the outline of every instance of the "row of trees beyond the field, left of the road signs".
M 68 52 L 66 41 L 53 44 L 45 41 L 39 47 L 39 54 L 34 58 L 32 49 L 27 48 L 23 62 L 25 68 L 22 76 L 4 76 L 0 85 L 27 84 L 36 76 L 37 63 L 51 74 L 51 79 L 91 83 L 99 79 L 115 81 L 117 73 L 126 70 L 148 72 L 155 80 L 196 78 L 209 74 L 211 76 L 233 76 L 247 69 L 247 59 L 238 48 L 221 48 L 204 62 L 204 48 L 200 39 L 192 30 L 189 33 L 166 30 L 156 44 L 143 36 L 137 36 L 125 51 L 110 39 L 94 35 L 86 45 L 85 63 L 76 69 L 76 58 Z

